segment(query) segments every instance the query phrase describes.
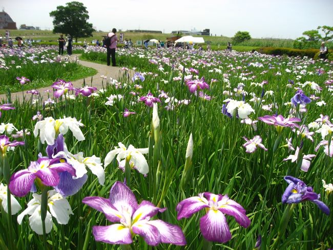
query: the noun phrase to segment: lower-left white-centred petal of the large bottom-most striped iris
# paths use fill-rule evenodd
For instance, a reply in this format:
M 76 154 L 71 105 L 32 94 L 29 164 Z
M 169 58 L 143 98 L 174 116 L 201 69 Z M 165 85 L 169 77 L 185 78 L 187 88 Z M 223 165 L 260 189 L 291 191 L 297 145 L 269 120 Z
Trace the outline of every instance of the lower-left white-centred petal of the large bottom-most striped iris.
M 109 244 L 131 244 L 133 242 L 130 229 L 122 224 L 93 226 L 93 235 L 96 241 Z

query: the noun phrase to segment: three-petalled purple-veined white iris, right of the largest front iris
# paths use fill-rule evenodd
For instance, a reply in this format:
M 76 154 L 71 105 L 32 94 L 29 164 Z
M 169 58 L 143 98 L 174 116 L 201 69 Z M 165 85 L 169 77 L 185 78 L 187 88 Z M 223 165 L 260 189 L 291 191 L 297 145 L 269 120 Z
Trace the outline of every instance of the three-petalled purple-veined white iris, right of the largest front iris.
M 227 195 L 214 195 L 207 192 L 179 202 L 176 207 L 177 219 L 189 218 L 203 208 L 206 214 L 200 219 L 200 230 L 208 241 L 224 243 L 231 239 L 225 214 L 235 217 L 237 223 L 245 228 L 251 224 L 246 217 L 245 209 L 240 204 L 229 199 Z

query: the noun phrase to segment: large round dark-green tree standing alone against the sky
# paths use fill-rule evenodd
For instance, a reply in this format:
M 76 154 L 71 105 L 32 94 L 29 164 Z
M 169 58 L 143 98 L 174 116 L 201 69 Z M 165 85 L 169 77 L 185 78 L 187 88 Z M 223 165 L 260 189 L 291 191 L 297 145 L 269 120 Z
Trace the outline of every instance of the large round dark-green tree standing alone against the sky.
M 77 42 L 78 37 L 92 36 L 93 25 L 88 23 L 87 8 L 79 2 L 70 2 L 66 6 L 58 6 L 50 12 L 53 17 L 53 33 L 70 34 Z

